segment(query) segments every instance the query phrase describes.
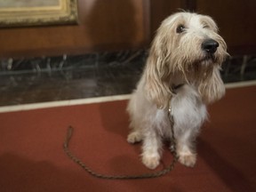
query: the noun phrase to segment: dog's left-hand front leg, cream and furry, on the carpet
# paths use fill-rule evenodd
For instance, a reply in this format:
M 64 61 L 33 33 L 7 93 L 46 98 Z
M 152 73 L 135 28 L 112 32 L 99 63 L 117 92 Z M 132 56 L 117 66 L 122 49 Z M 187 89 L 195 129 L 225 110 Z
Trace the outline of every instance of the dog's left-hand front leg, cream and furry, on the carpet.
M 153 130 L 145 134 L 142 145 L 142 163 L 149 169 L 155 169 L 161 158 L 162 140 Z

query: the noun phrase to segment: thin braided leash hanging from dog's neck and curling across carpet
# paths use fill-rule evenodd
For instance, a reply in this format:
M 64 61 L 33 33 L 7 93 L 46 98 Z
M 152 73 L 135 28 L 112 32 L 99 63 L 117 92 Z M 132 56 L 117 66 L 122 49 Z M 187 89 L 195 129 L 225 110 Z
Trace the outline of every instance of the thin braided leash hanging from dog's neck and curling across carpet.
M 171 172 L 174 168 L 174 164 L 178 161 L 179 157 L 176 154 L 176 143 L 174 138 L 174 132 L 173 132 L 173 116 L 171 115 L 171 107 L 169 107 L 168 110 L 168 117 L 171 124 L 171 130 L 172 130 L 172 145 L 171 145 L 171 151 L 173 155 L 172 163 L 164 168 L 164 170 L 153 172 L 153 173 L 145 173 L 145 174 L 138 174 L 138 175 L 105 175 L 100 174 L 98 172 L 93 172 L 92 169 L 90 169 L 86 164 L 84 164 L 79 158 L 73 155 L 73 153 L 70 152 L 68 148 L 69 141 L 72 137 L 74 128 L 72 126 L 68 127 L 67 137 L 63 145 L 64 152 L 67 154 L 67 156 L 74 161 L 76 164 L 81 166 L 86 172 L 90 173 L 93 177 L 105 179 L 105 180 L 138 180 L 138 179 L 150 179 L 150 178 L 157 178 L 161 177 L 168 172 Z

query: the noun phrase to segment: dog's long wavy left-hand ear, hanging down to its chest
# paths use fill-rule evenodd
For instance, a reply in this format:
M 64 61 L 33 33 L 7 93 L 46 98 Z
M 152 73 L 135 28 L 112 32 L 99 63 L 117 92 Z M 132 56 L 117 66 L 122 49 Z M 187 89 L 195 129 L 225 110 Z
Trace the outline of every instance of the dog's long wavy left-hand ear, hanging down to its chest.
M 151 46 L 144 76 L 146 76 L 145 91 L 148 100 L 156 103 L 157 108 L 165 108 L 171 99 L 170 72 L 168 62 L 167 39 L 156 34 Z

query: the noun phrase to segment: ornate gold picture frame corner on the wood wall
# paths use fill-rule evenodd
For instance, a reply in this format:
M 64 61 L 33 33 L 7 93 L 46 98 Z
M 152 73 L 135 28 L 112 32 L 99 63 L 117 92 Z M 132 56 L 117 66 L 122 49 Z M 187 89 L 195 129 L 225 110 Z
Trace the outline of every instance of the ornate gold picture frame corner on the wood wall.
M 77 23 L 76 0 L 0 0 L 0 28 Z

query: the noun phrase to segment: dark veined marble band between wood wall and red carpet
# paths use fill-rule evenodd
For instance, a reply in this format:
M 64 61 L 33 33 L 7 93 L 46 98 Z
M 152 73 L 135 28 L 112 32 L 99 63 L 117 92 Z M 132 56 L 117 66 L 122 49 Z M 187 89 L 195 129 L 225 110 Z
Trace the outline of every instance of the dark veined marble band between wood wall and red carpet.
M 145 50 L 0 60 L 0 106 L 131 93 L 147 60 Z M 232 57 L 225 83 L 256 79 L 256 57 Z

